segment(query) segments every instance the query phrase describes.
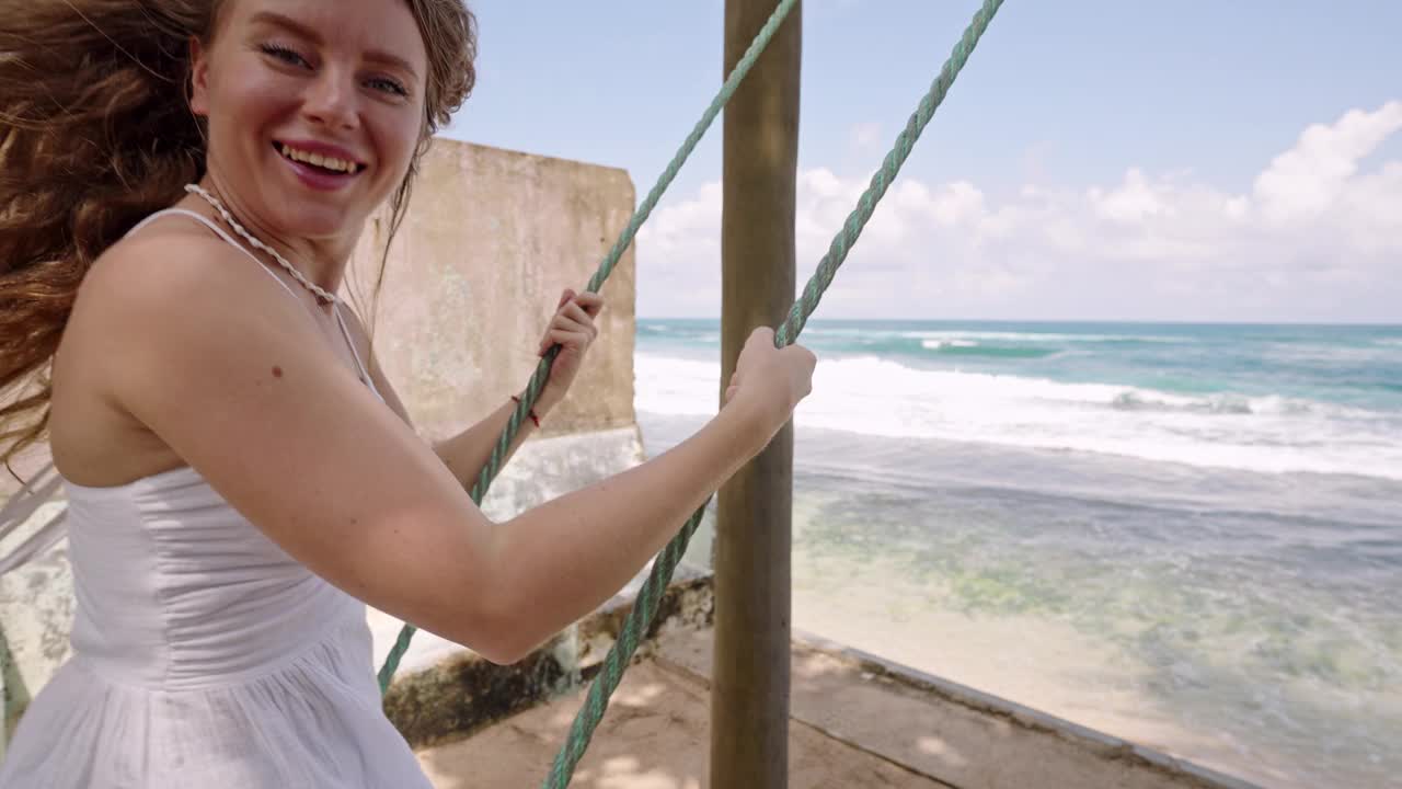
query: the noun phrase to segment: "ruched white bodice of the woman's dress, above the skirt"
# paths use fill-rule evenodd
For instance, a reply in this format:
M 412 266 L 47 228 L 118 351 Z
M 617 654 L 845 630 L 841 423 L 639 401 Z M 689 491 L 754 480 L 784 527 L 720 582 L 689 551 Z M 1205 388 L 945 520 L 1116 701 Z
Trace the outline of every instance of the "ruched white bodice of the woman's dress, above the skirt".
M 276 671 L 294 657 L 290 644 L 365 628 L 359 601 L 287 556 L 189 468 L 121 489 L 64 487 L 73 649 L 98 674 L 153 689 L 222 685 Z

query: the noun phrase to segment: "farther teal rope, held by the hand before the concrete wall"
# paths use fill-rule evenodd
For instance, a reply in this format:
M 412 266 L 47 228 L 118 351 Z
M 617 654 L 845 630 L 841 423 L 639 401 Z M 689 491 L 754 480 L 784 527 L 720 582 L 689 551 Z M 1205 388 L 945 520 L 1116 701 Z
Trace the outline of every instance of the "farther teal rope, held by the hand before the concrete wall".
M 711 100 L 711 105 L 707 107 L 701 119 L 697 121 L 691 133 L 687 135 L 686 142 L 681 143 L 676 156 L 672 157 L 672 161 L 662 173 L 662 177 L 658 178 L 652 191 L 648 192 L 646 199 L 644 199 L 634 212 L 632 219 L 628 220 L 628 226 L 624 227 L 622 234 L 620 234 L 618 240 L 614 241 L 613 248 L 610 248 L 608 254 L 604 256 L 603 263 L 589 279 L 589 285 L 585 286 L 585 291 L 597 293 L 599 289 L 603 288 L 604 279 L 613 274 L 614 267 L 618 265 L 618 260 L 622 258 L 622 253 L 629 244 L 632 244 L 634 236 L 638 234 L 638 229 L 642 227 L 642 223 L 652 215 L 652 209 L 658 205 L 658 201 L 662 199 L 667 187 L 672 185 L 672 181 L 677 177 L 677 173 L 681 170 L 687 157 L 691 156 L 697 143 L 701 142 L 701 138 L 711 126 L 711 122 L 721 114 L 721 110 L 730 101 L 730 97 L 735 95 L 735 90 L 740 87 L 740 81 L 743 81 L 746 74 L 750 73 L 750 69 L 754 67 L 754 62 L 760 59 L 760 53 L 764 52 L 765 46 L 768 46 L 770 39 L 773 39 L 774 34 L 780 29 L 780 24 L 788 18 L 789 11 L 794 10 L 796 3 L 798 0 L 782 0 L 782 3 L 774 8 L 774 14 L 770 15 L 770 20 L 764 22 L 763 28 L 760 28 L 758 35 L 754 37 L 753 42 L 750 42 L 750 48 L 744 52 L 744 56 L 740 58 L 740 62 L 735 65 L 730 76 L 726 77 L 725 84 L 721 86 L 721 93 Z M 486 496 L 486 489 L 491 487 L 492 480 L 496 479 L 498 473 L 501 473 L 503 459 L 509 455 L 512 442 L 516 439 L 516 434 L 520 431 L 522 423 L 529 418 L 530 410 L 536 406 L 536 400 L 540 397 L 540 392 L 545 386 L 545 380 L 550 379 L 550 366 L 555 364 L 557 355 L 559 355 L 559 345 L 552 347 L 545 357 L 541 358 L 540 364 L 536 365 L 536 373 L 531 375 L 530 383 L 526 385 L 526 392 L 522 394 L 520 403 L 517 403 L 516 410 L 512 411 L 512 416 L 506 423 L 506 430 L 503 430 L 502 435 L 496 439 L 496 446 L 492 448 L 491 459 L 488 459 L 486 465 L 482 466 L 482 473 L 478 475 L 477 484 L 474 484 L 471 490 L 472 501 L 478 505 L 482 504 L 482 498 Z M 418 632 L 418 629 L 414 625 L 405 625 L 400 630 L 400 637 L 395 639 L 388 657 L 384 660 L 384 665 L 380 667 L 379 677 L 381 694 L 388 691 L 390 679 L 394 678 L 394 672 L 400 668 L 400 661 L 404 658 L 404 653 L 408 651 L 409 642 L 414 639 L 415 632 Z

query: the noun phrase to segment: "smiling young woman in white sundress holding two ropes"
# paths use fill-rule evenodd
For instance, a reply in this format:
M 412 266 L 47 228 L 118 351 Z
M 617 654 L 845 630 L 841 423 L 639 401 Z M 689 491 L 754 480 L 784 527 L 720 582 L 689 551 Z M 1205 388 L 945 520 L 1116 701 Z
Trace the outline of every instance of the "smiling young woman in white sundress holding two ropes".
M 813 355 L 758 330 L 688 441 L 489 522 L 464 487 L 512 403 L 429 446 L 334 295 L 471 90 L 461 1 L 29 0 L 4 18 L 0 453 L 49 441 L 77 621 L 0 786 L 428 786 L 380 710 L 365 604 L 519 660 L 809 392 Z M 538 413 L 599 309 L 561 300 Z

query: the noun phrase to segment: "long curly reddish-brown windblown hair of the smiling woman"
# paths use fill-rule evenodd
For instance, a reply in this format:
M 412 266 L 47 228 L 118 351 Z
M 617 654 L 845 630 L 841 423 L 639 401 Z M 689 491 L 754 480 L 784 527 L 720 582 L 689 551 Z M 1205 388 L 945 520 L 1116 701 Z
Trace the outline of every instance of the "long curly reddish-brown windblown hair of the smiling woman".
M 189 41 L 227 0 L 0 0 L 0 462 L 46 438 L 52 362 L 93 261 L 205 167 Z M 475 81 L 463 0 L 405 0 L 429 55 L 423 133 L 390 201 Z M 388 240 L 386 241 L 388 250 Z M 384 260 L 374 291 L 384 279 Z

